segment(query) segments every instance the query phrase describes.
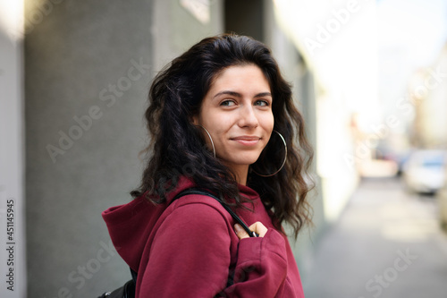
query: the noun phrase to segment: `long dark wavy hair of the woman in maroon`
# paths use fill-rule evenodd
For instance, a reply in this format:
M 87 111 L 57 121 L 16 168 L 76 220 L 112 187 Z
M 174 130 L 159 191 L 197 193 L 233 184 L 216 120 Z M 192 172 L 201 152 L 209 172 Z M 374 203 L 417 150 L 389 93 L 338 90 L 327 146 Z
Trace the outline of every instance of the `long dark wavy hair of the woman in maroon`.
M 187 176 L 202 188 L 219 193 L 233 208 L 242 207 L 247 198 L 240 196 L 235 175 L 207 149 L 200 128 L 192 123 L 215 77 L 234 65 L 257 65 L 266 75 L 273 97 L 274 130 L 287 143 L 287 162 L 283 163 L 283 140 L 269 140 L 257 162 L 250 166 L 247 185 L 259 193 L 267 210 L 273 212 L 274 226 L 283 222 L 294 229 L 311 223 L 308 168 L 313 150 L 305 134 L 304 120 L 293 103 L 291 85 L 284 81 L 271 51 L 261 42 L 246 36 L 223 34 L 205 38 L 156 75 L 149 91 L 145 117 L 150 142 L 148 163 L 132 197 L 144 195 L 156 204 Z M 256 173 L 255 173 L 256 172 Z

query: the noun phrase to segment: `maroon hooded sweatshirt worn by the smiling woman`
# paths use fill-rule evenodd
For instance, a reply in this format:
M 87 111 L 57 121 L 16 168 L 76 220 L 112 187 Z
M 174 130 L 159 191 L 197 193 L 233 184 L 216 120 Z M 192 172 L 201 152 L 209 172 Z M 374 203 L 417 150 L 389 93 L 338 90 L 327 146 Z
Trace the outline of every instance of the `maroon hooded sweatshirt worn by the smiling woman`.
M 257 192 L 239 186 L 254 209 L 247 203 L 253 211 L 237 213 L 268 231 L 240 240 L 217 200 L 190 194 L 169 204 L 194 186 L 181 178 L 165 204 L 138 198 L 103 212 L 116 251 L 138 271 L 136 297 L 304 297 L 287 237 L 274 229 Z

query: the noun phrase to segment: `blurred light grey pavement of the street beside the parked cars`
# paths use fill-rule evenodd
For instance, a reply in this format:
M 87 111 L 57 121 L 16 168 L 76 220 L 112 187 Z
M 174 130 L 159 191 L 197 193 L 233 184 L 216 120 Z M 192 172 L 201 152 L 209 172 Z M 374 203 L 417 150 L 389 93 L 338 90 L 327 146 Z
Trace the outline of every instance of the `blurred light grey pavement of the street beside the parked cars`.
M 434 197 L 400 180 L 360 183 L 300 268 L 307 298 L 445 298 L 447 234 Z

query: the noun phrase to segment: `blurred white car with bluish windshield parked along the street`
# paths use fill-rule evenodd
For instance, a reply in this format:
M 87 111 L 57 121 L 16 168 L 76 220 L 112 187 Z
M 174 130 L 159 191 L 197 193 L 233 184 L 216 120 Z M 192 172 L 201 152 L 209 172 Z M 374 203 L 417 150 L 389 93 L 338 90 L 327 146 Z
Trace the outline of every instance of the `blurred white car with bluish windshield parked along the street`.
M 445 183 L 446 151 L 416 150 L 403 165 L 403 181 L 410 192 L 435 193 Z

